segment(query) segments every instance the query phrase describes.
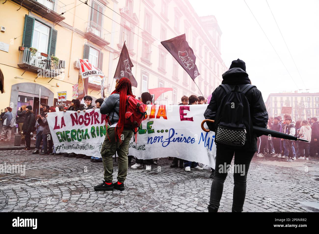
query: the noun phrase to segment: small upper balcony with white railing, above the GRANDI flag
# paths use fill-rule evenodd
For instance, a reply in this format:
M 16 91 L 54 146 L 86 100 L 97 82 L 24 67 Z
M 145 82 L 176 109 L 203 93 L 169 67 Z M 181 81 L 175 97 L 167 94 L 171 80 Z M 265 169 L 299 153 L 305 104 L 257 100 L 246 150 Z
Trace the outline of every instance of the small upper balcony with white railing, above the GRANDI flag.
M 107 46 L 111 41 L 111 33 L 94 21 L 85 23 L 85 38 L 98 46 Z

